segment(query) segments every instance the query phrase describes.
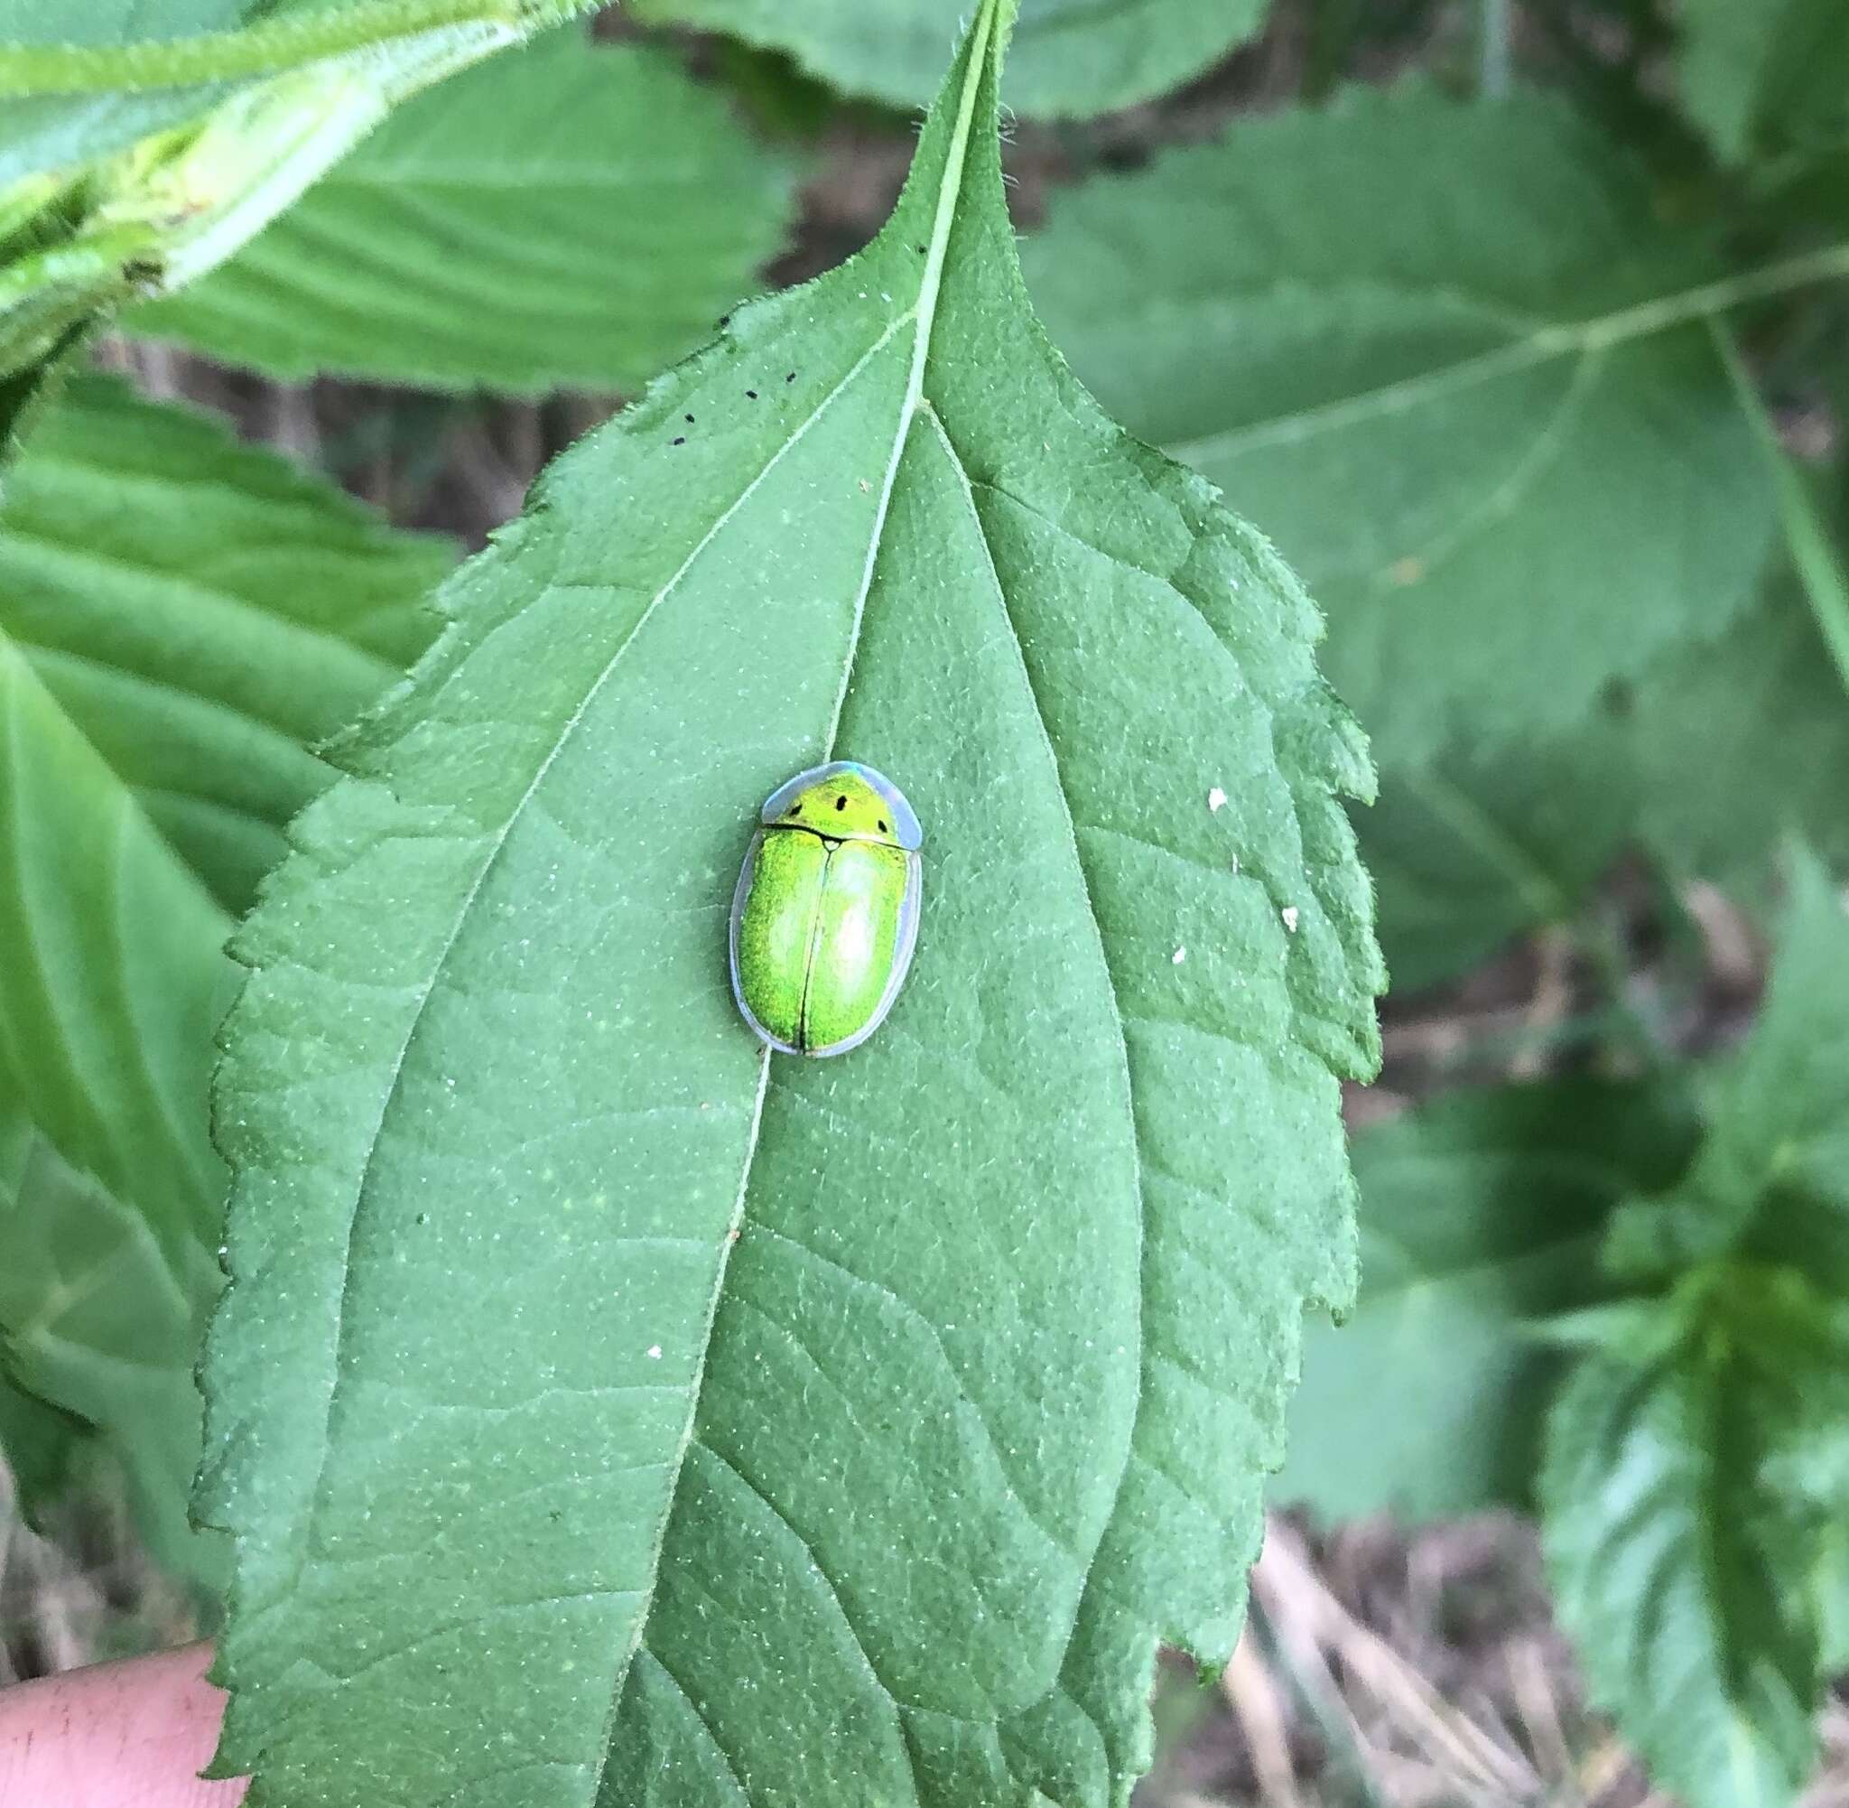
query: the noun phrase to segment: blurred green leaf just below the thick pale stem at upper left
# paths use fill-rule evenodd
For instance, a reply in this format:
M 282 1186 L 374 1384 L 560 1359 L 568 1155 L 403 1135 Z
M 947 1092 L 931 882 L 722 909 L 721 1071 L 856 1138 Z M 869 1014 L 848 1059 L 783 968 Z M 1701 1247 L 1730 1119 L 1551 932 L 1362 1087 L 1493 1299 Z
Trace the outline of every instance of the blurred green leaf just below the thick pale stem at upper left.
M 627 390 L 753 287 L 790 202 L 673 59 L 553 33 L 409 102 L 129 329 L 274 377 Z

